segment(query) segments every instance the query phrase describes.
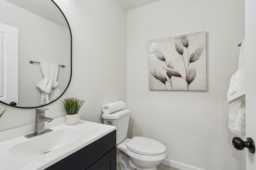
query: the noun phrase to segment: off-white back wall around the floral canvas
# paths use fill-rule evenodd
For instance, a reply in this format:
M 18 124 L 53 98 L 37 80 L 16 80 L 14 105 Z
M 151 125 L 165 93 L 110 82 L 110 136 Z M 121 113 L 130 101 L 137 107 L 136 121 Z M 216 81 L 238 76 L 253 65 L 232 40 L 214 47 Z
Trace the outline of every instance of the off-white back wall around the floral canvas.
M 207 91 L 149 91 L 148 41 L 206 31 Z M 162 142 L 168 158 L 207 170 L 243 170 L 232 148 L 226 93 L 244 37 L 244 1 L 161 0 L 128 11 L 129 136 Z

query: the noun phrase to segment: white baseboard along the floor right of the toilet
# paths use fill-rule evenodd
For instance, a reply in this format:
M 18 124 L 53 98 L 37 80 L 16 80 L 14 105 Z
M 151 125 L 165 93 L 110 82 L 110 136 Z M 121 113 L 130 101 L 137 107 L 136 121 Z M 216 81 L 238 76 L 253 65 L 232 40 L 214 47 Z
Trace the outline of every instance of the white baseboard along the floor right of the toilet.
M 172 168 L 177 168 L 177 169 L 180 169 L 180 170 L 204 170 L 202 168 L 197 168 L 195 166 L 191 166 L 191 165 L 188 165 L 188 164 L 184 164 L 182 162 L 177 162 L 175 160 L 170 160 L 168 158 L 166 158 L 162 164 L 164 165 L 168 165 L 168 166 L 171 166 Z

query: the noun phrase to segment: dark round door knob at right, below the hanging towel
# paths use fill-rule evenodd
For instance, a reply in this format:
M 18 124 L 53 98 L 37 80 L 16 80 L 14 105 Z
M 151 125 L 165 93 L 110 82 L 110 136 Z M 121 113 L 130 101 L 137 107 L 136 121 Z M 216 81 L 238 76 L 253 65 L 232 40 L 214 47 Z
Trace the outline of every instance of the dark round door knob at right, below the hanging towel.
M 246 138 L 246 141 L 243 141 L 239 137 L 234 137 L 232 139 L 232 144 L 237 150 L 243 150 L 244 148 L 248 148 L 249 152 L 255 152 L 255 146 L 252 138 Z

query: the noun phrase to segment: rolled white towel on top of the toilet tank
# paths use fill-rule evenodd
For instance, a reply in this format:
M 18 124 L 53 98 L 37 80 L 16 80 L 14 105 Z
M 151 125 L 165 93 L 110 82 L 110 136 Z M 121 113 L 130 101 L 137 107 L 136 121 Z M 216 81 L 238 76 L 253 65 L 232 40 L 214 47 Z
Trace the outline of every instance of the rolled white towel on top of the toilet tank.
M 110 114 L 125 108 L 126 108 L 126 104 L 123 101 L 116 101 L 116 102 L 102 105 L 102 112 L 103 114 Z

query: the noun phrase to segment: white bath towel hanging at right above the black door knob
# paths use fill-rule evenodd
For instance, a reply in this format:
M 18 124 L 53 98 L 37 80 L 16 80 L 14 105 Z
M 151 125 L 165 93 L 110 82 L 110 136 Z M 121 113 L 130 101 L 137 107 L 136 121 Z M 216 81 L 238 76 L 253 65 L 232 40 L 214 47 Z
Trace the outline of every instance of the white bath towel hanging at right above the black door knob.
M 228 129 L 238 135 L 245 135 L 245 56 L 244 40 L 241 44 L 238 71 L 232 75 L 228 88 Z

